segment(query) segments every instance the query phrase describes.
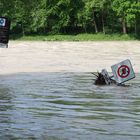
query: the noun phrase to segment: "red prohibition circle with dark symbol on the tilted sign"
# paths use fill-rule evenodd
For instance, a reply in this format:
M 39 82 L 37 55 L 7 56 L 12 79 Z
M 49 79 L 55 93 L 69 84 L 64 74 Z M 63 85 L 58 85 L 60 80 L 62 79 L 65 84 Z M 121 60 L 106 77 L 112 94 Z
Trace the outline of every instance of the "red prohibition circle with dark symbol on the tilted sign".
M 127 65 L 121 65 L 118 68 L 118 75 L 121 78 L 126 78 L 130 74 L 130 68 Z

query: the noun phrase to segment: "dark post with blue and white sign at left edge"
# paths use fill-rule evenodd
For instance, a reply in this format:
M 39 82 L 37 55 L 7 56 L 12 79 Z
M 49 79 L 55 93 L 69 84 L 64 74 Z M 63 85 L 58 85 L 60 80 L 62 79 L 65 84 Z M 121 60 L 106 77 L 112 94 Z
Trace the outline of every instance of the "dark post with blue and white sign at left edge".
M 10 31 L 10 20 L 0 17 L 0 47 L 8 47 Z

